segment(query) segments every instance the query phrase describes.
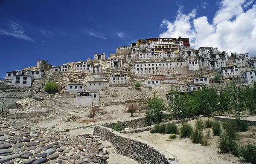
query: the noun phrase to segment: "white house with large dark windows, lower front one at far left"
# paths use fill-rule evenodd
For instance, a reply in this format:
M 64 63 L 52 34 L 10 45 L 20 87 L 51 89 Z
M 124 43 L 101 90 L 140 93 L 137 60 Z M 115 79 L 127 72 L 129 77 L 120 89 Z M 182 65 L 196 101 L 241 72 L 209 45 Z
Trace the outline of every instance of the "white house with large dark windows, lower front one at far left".
M 30 75 L 14 75 L 12 78 L 13 86 L 32 86 L 34 76 Z

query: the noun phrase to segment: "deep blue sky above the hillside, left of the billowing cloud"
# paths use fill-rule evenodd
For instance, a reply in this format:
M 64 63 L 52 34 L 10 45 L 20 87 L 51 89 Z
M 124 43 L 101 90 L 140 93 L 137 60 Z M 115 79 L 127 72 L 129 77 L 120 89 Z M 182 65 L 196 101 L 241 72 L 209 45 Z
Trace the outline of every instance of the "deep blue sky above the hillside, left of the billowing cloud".
M 0 0 L 0 77 L 39 59 L 56 66 L 94 53 L 108 56 L 140 38 L 178 37 L 183 33 L 168 33 L 163 20 L 177 23 L 179 12 L 194 10 L 211 24 L 220 7 L 213 0 Z M 189 30 L 197 32 L 193 24 Z

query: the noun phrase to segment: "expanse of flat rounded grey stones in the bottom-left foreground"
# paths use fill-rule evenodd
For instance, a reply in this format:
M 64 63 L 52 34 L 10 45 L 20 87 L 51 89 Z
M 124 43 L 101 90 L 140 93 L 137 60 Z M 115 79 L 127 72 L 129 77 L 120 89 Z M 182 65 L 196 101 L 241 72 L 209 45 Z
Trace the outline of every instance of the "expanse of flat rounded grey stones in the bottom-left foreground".
M 0 119 L 0 164 L 99 164 L 109 158 L 100 139 Z

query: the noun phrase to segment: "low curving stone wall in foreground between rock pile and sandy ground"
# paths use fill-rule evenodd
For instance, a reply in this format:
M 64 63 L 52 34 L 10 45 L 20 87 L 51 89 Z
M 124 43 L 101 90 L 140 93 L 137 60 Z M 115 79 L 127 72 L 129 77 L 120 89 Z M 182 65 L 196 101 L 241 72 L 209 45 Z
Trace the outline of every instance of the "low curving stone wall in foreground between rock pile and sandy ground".
M 95 126 L 93 135 L 109 141 L 119 154 L 143 164 L 179 164 L 175 156 L 146 141 L 122 135 L 113 129 Z

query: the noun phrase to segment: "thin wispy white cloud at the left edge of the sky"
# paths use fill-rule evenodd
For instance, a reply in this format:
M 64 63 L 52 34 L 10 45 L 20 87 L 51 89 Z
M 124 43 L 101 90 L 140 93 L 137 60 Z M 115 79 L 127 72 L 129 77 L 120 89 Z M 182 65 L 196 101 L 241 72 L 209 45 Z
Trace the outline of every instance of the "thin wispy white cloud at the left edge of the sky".
M 7 35 L 18 39 L 34 41 L 31 37 L 26 35 L 26 33 L 24 32 L 24 28 L 22 26 L 11 20 L 9 20 L 8 23 L 1 24 L 0 35 Z

